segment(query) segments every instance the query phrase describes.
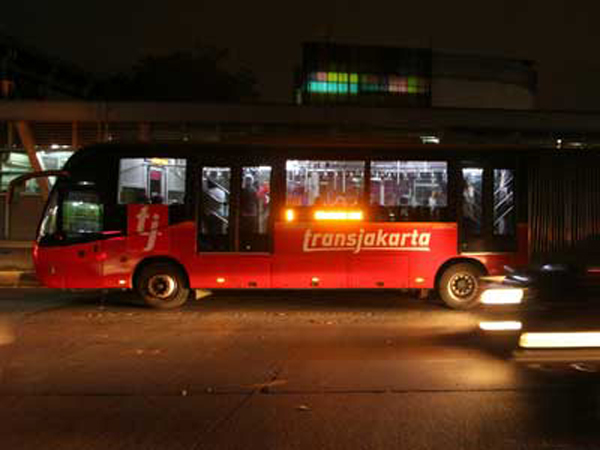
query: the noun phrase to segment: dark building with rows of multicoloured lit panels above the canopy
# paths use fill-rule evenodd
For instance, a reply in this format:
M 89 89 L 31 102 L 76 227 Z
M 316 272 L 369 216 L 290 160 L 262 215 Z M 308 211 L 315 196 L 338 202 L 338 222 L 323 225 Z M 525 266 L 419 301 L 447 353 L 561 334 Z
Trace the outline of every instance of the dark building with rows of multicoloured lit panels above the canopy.
M 532 109 L 531 61 L 423 48 L 306 43 L 296 103 Z

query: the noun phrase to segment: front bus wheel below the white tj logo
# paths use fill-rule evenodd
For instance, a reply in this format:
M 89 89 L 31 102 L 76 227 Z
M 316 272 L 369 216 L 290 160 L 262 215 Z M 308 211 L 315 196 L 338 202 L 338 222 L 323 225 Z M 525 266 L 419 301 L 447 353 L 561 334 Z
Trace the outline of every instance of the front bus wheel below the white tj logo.
M 170 263 L 150 263 L 143 267 L 134 286 L 141 300 L 157 309 L 179 308 L 190 295 L 184 273 Z

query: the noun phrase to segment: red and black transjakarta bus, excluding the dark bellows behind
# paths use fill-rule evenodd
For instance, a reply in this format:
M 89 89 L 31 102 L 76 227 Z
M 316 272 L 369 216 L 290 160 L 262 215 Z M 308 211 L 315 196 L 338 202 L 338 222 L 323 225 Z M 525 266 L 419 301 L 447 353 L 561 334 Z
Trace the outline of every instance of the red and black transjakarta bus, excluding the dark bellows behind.
M 133 289 L 156 308 L 199 289 L 395 288 L 466 309 L 480 276 L 526 262 L 517 161 L 437 146 L 97 145 L 54 184 L 35 267 L 48 287 Z

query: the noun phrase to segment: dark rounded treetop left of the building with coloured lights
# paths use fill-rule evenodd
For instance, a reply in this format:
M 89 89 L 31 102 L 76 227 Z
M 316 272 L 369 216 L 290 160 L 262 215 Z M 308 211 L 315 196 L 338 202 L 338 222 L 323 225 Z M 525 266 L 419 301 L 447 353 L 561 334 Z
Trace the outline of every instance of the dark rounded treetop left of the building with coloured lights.
M 256 98 L 256 78 L 248 69 L 224 66 L 228 50 L 195 47 L 146 56 L 128 72 L 110 76 L 96 97 L 120 101 L 238 102 Z

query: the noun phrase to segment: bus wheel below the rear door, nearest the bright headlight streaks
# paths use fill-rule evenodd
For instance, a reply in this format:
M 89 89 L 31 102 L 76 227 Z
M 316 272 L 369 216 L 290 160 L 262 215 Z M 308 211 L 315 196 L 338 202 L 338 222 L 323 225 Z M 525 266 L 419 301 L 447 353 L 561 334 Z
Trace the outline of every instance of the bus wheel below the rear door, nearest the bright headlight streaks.
M 479 304 L 481 281 L 484 272 L 470 263 L 454 264 L 448 267 L 438 284 L 442 301 L 452 309 L 471 309 Z

